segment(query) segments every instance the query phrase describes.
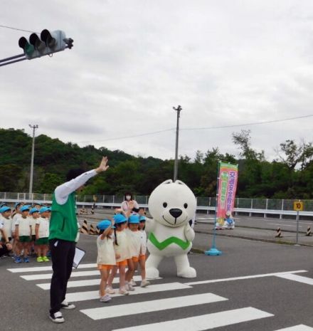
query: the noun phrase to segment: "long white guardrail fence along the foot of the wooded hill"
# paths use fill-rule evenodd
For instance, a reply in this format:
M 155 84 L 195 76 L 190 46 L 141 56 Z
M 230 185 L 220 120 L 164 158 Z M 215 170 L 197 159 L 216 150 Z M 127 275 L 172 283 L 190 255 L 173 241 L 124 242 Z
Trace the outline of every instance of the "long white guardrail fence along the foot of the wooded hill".
M 94 201 L 96 199 L 96 202 Z M 138 202 L 139 206 L 148 208 L 149 196 L 134 196 L 134 199 Z M 14 204 L 16 201 L 24 201 L 26 203 L 33 203 L 38 201 L 41 204 L 51 204 L 52 194 L 28 194 L 28 193 L 16 193 L 16 192 L 0 192 L 0 201 L 4 201 L 8 204 Z M 116 208 L 121 205 L 123 201 L 122 196 L 82 196 L 78 195 L 77 204 L 78 207 L 91 207 L 92 204 L 96 204 L 97 208 Z M 248 216 L 262 216 L 267 215 L 278 216 L 280 219 L 283 216 L 296 216 L 297 212 L 293 210 L 293 202 L 295 200 L 287 199 L 235 199 L 235 216 L 239 214 L 247 214 Z M 299 216 L 306 216 L 313 218 L 313 200 L 302 200 L 304 205 L 304 211 L 299 211 Z M 213 213 L 216 209 L 216 198 L 214 197 L 197 197 L 197 211 L 204 212 L 206 214 Z

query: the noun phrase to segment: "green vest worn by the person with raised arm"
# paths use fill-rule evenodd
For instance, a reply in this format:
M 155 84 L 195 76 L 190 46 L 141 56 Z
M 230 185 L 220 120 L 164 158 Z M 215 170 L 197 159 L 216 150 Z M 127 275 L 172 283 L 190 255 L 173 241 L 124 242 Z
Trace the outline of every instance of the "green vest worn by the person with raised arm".
M 53 193 L 49 240 L 63 239 L 65 241 L 75 241 L 77 233 L 78 221 L 76 217 L 75 192 L 68 195 L 68 201 L 65 204 L 58 204 Z

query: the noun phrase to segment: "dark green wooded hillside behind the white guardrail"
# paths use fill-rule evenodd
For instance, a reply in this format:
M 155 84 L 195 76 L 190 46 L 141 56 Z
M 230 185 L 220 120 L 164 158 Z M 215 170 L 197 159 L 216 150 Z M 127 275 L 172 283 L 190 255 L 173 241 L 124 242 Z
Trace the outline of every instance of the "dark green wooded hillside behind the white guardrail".
M 0 191 L 27 192 L 31 168 L 32 137 L 23 130 L 0 129 Z M 313 147 L 311 142 L 286 140 L 280 143 L 277 157 L 265 159 L 264 152 L 251 146 L 250 130 L 233 133 L 239 157 L 221 154 L 218 147 L 196 157 L 179 157 L 179 179 L 196 196 L 216 195 L 218 161 L 238 164 L 240 198 L 312 199 Z M 173 177 L 174 159 L 136 157 L 122 150 L 92 145 L 79 147 L 46 135 L 36 137 L 33 171 L 33 192 L 52 193 L 65 181 L 70 168 L 90 170 L 97 167 L 102 156 L 110 160 L 110 171 L 90 180 L 83 194 L 122 195 L 131 191 L 149 195 L 161 182 Z M 195 148 L 196 149 L 196 148 Z

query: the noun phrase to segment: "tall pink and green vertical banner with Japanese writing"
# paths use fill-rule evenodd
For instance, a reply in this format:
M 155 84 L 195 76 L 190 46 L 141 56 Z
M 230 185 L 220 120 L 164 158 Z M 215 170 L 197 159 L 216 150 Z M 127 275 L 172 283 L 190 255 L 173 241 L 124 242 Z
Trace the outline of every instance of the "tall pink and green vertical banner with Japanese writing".
M 219 162 L 219 169 L 216 228 L 225 228 L 232 219 L 238 182 L 238 164 Z

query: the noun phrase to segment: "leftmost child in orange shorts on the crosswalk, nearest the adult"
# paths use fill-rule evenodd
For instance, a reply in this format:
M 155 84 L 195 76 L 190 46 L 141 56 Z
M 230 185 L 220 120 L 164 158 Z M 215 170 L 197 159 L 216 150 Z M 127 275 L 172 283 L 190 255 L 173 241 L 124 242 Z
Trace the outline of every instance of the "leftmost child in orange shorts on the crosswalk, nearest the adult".
M 100 270 L 100 301 L 107 303 L 111 300 L 109 293 L 105 293 L 107 279 L 109 278 L 110 270 L 116 265 L 115 250 L 113 245 L 112 233 L 115 226 L 111 221 L 104 219 L 97 224 L 100 236 L 97 237 L 97 269 Z M 117 255 L 117 258 L 120 256 Z

